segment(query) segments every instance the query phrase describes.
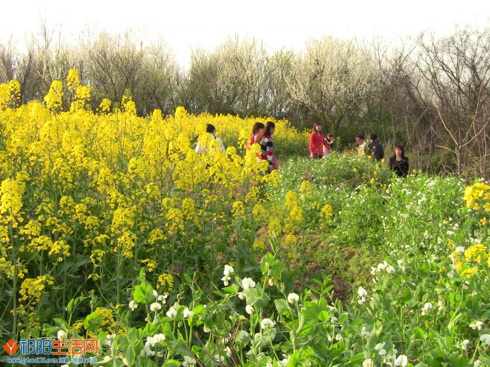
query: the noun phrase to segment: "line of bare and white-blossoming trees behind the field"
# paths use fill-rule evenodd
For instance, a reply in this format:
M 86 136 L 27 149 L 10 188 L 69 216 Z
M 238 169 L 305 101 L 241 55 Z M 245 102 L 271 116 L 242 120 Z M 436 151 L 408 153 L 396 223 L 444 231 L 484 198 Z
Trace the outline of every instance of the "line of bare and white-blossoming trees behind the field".
M 488 27 L 398 42 L 324 36 L 302 51 L 269 51 L 236 35 L 214 50 L 192 50 L 188 68 L 164 39 L 147 42 L 131 31 L 86 30 L 73 46 L 61 28 L 42 23 L 22 50 L 12 38 L 0 44 L 0 82 L 19 80 L 22 103 L 42 100 L 72 68 L 91 87 L 94 109 L 129 90 L 141 115 L 184 106 L 195 114 L 287 118 L 298 128 L 319 120 L 348 142 L 375 131 L 429 172 L 490 173 Z

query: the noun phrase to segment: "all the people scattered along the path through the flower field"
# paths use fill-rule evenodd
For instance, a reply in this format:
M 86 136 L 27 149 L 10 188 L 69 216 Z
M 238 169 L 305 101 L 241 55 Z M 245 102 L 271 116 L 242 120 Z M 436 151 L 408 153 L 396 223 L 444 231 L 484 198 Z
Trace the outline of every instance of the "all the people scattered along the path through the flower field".
M 313 132 L 310 135 L 310 158 L 320 159 L 330 154 L 330 150 L 333 147 L 334 140 L 332 134 L 327 134 L 323 137 L 321 134 L 322 125 L 317 121 L 313 124 Z M 261 148 L 261 152 L 257 153 L 257 159 L 267 160 L 269 163 L 268 171 L 271 172 L 278 168 L 277 160 L 274 155 L 274 140 L 272 134 L 275 131 L 275 123 L 268 121 L 265 125 L 262 122 L 256 122 L 252 127 L 252 135 L 248 139 L 247 149 L 250 149 L 252 144 L 258 143 Z M 211 134 L 212 139 L 218 141 L 221 151 L 225 152 L 223 142 L 220 138 L 216 137 L 216 128 L 208 124 L 206 126 L 206 132 Z M 381 161 L 385 156 L 383 145 L 378 141 L 378 136 L 375 133 L 369 135 L 369 142 L 366 141 L 363 135 L 356 136 L 356 142 L 358 147 L 359 157 L 368 157 L 372 161 Z M 203 153 L 205 150 L 200 142 L 196 145 L 196 152 Z M 408 159 L 405 157 L 405 151 L 403 146 L 396 145 L 394 147 L 394 155 L 390 157 L 389 167 L 396 175 L 400 177 L 407 177 L 408 175 Z

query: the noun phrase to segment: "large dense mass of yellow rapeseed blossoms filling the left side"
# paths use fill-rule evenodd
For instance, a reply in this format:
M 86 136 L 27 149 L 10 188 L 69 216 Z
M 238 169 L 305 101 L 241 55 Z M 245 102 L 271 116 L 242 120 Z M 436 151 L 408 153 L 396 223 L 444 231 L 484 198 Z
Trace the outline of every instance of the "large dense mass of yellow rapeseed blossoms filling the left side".
M 235 148 L 239 138 L 248 140 L 255 122 L 269 118 L 196 116 L 183 107 L 169 116 L 154 111 L 138 117 L 129 92 L 120 103 L 102 100 L 94 113 L 85 106 L 90 88 L 74 69 L 65 84 L 51 83 L 44 103 L 19 106 L 20 93 L 18 81 L 0 85 L 0 282 L 23 279 L 13 293 L 23 302 L 32 298 L 41 309 L 39 292 L 52 282 L 57 290 L 84 277 L 105 288 L 113 267 L 136 269 L 142 263 L 164 273 L 158 281 L 170 291 L 172 251 L 194 246 L 191 237 L 205 228 L 236 233 L 237 221 L 250 208 L 256 222 L 267 223 L 281 240 L 286 235 L 292 246 L 304 220 L 302 203 L 289 194 L 286 211 L 266 212 L 260 203 L 280 172 L 266 174 L 267 161 L 256 155 L 259 144 Z M 71 103 L 68 111 L 62 111 L 63 103 Z M 271 120 L 277 154 L 308 146 L 308 133 L 298 133 L 286 120 Z M 196 133 L 205 136 L 208 123 L 217 128 L 226 153 L 193 149 Z M 304 184 L 303 191 L 309 195 L 311 186 Z M 263 250 L 265 244 L 257 241 L 254 247 Z M 66 277 L 68 268 L 60 262 L 67 257 L 83 265 L 70 267 L 76 276 Z M 29 277 L 27 269 L 41 273 Z M 23 320 L 45 321 L 32 313 L 26 309 Z

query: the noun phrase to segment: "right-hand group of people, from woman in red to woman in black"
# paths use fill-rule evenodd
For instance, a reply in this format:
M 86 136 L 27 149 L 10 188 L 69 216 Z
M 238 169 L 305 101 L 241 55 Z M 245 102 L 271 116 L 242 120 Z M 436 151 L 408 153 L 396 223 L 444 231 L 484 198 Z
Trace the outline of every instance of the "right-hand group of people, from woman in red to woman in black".
M 320 159 L 330 154 L 330 149 L 334 141 L 329 133 L 326 138 L 321 134 L 321 122 L 317 121 L 313 124 L 313 132 L 310 135 L 310 158 Z M 383 145 L 378 141 L 376 133 L 369 135 L 369 142 L 366 141 L 363 135 L 356 136 L 356 142 L 359 145 L 357 154 L 359 157 L 368 157 L 372 161 L 381 161 L 385 157 Z M 407 177 L 408 175 L 408 159 L 405 157 L 403 146 L 396 145 L 394 155 L 390 157 L 389 167 L 396 175 Z

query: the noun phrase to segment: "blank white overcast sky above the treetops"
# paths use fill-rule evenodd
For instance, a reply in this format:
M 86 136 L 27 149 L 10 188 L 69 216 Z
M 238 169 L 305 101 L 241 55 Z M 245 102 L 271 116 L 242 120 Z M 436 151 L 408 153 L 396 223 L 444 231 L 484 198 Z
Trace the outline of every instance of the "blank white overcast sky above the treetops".
M 339 38 L 405 38 L 422 30 L 438 35 L 457 24 L 485 28 L 488 0 L 17 0 L 1 4 L 0 39 L 24 40 L 41 19 L 62 24 L 63 36 L 77 40 L 87 26 L 108 32 L 131 28 L 149 41 L 162 36 L 181 65 L 191 47 L 213 49 L 227 36 L 255 37 L 271 50 L 299 49 L 323 35 Z

